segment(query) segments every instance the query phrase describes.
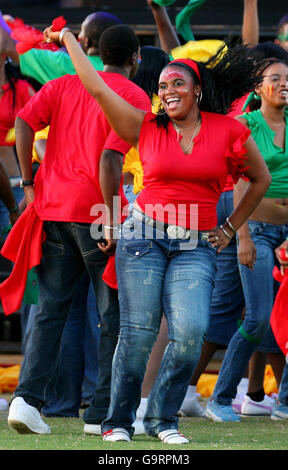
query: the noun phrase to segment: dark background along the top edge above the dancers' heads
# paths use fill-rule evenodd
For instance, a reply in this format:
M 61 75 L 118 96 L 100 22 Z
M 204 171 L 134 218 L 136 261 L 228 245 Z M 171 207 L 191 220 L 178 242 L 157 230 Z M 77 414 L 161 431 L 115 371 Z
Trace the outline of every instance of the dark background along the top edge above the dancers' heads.
M 174 24 L 176 14 L 188 0 L 176 0 L 167 7 Z M 134 27 L 142 42 L 156 38 L 156 28 L 146 0 L 0 0 L 2 13 L 18 16 L 39 29 L 51 24 L 56 16 L 63 15 L 77 33 L 83 19 L 91 12 L 104 10 L 119 16 L 123 23 Z M 284 0 L 259 0 L 260 40 L 275 37 L 279 19 L 288 13 Z M 240 34 L 243 0 L 207 0 L 191 18 L 196 39 L 223 38 L 230 32 Z

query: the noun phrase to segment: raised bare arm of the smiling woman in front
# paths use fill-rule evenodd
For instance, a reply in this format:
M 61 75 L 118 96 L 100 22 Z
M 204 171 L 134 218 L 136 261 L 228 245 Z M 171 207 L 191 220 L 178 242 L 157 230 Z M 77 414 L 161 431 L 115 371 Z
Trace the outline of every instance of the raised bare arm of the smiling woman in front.
M 47 28 L 44 31 L 44 38 L 59 43 L 59 32 L 52 31 L 51 27 Z M 66 30 L 62 41 L 81 82 L 98 101 L 111 127 L 123 140 L 137 147 L 145 111 L 130 105 L 106 85 L 79 47 L 70 30 Z

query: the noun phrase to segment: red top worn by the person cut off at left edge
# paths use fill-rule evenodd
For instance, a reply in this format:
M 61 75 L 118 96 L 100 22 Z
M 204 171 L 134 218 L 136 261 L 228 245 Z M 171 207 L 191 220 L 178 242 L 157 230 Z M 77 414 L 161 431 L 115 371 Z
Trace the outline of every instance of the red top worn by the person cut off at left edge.
M 14 81 L 15 104 L 13 107 L 13 90 L 10 83 L 2 86 L 3 95 L 0 99 L 0 145 L 13 146 L 14 142 L 6 142 L 7 133 L 15 125 L 15 118 L 21 108 L 30 100 L 32 86 L 25 80 Z M 33 90 L 34 91 L 34 90 Z

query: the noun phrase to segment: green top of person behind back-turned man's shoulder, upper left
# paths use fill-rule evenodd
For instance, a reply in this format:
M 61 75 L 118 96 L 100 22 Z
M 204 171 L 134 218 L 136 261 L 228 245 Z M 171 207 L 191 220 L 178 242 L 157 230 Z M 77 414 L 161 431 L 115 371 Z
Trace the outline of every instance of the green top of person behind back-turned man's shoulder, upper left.
M 96 70 L 103 70 L 100 57 L 87 55 L 87 58 Z M 21 72 L 28 77 L 35 78 L 42 85 L 66 74 L 76 74 L 70 56 L 63 51 L 30 49 L 24 54 L 19 54 L 19 60 Z

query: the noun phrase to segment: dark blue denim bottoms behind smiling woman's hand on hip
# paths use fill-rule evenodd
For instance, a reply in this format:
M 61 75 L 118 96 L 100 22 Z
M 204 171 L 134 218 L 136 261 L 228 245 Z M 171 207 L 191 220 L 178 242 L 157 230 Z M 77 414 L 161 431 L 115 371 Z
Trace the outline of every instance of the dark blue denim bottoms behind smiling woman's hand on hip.
M 233 191 L 225 191 L 217 204 L 217 224 L 224 224 L 232 212 Z M 205 340 L 227 346 L 239 326 L 244 307 L 245 301 L 234 237 L 217 256 L 217 275 Z

